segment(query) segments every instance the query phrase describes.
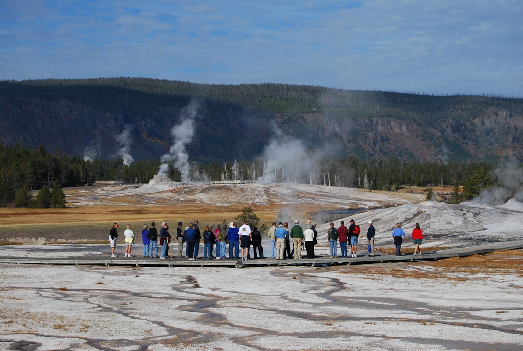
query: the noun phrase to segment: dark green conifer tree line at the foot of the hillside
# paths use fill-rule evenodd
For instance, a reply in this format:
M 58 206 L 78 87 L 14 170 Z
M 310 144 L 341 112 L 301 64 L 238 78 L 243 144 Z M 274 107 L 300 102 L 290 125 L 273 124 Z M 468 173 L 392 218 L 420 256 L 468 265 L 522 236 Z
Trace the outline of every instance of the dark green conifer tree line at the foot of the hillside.
M 147 159 L 123 165 L 122 159 L 84 160 L 56 149 L 48 153 L 19 145 L 0 145 L 0 206 L 63 207 L 63 187 L 93 185 L 95 181 L 146 183 L 158 173 L 161 161 Z M 191 178 L 197 182 L 212 180 L 253 180 L 264 175 L 261 159 L 234 162 L 191 162 Z M 293 178 L 282 169 L 275 173 L 275 182 L 303 182 L 318 185 L 345 186 L 368 190 L 396 191 L 402 185 L 436 186 L 465 184 L 477 186 L 477 173 L 490 174 L 498 165 L 493 162 L 414 162 L 398 159 L 362 160 L 325 156 L 302 178 Z M 180 173 L 172 165 L 167 176 L 180 181 Z M 302 175 L 303 176 L 303 175 Z M 473 178 L 475 176 L 476 178 Z M 492 177 L 492 176 L 491 176 Z M 492 186 L 493 179 L 480 183 Z M 33 196 L 33 193 L 38 194 Z M 472 191 L 472 190 L 471 190 Z M 477 192 L 473 190 L 473 192 Z M 470 194 L 468 195 L 470 197 Z

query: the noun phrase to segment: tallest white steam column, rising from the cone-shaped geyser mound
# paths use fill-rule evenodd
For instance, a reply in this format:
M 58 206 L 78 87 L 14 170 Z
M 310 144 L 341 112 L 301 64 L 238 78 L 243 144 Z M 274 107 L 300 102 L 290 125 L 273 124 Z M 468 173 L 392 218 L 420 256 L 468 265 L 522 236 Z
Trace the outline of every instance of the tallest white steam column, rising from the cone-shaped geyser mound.
M 200 110 L 200 104 L 196 100 L 191 100 L 180 112 L 180 123 L 173 126 L 170 135 L 173 137 L 173 145 L 169 148 L 169 153 L 161 157 L 163 162 L 158 171 L 158 176 L 163 177 L 169 169 L 169 163 L 174 163 L 174 167 L 181 174 L 181 181 L 190 182 L 189 154 L 186 146 L 191 142 L 195 134 L 195 119 Z

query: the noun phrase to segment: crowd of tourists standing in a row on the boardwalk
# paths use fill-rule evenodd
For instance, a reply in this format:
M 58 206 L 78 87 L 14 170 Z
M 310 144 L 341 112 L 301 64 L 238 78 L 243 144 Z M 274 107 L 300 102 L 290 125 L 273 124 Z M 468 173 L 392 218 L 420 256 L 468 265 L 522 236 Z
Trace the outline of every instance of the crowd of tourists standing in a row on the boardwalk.
M 349 249 L 350 257 L 356 258 L 358 256 L 358 238 L 360 237 L 361 229 L 356 225 L 354 219 L 349 221 L 349 227 L 345 226 L 342 220 L 339 227 L 335 227 L 334 223 L 330 223 L 327 230 L 327 242 L 331 250 L 331 258 L 348 258 Z M 374 238 L 376 235 L 376 228 L 373 226 L 372 220 L 367 222 L 367 241 L 369 256 L 374 256 Z M 256 226 L 249 226 L 246 221 L 242 221 L 240 227 L 236 222 L 232 222 L 228 228 L 222 228 L 221 225 L 206 226 L 201 232 L 198 226 L 198 220 L 193 221 L 185 229 L 182 229 L 183 223 L 178 222 L 176 227 L 176 239 L 172 239 L 169 233 L 169 226 L 166 222 L 161 224 L 160 232 L 156 229 L 156 224 L 153 222 L 148 227 L 146 224 L 142 228 L 142 243 L 143 243 L 143 257 L 145 258 L 173 258 L 173 252 L 170 249 L 171 242 L 177 242 L 177 257 L 189 260 L 197 260 L 200 253 L 200 242 L 203 238 L 203 259 L 226 259 L 230 260 L 250 260 L 250 248 L 253 248 L 254 259 L 265 259 L 263 247 L 261 242 L 263 235 Z M 306 258 L 314 259 L 314 246 L 318 243 L 318 233 L 315 229 L 316 224 L 310 220 L 306 221 L 306 229 L 300 226 L 299 220 L 294 221 L 294 225 L 289 229 L 288 223 L 272 222 L 272 226 L 268 230 L 268 236 L 271 243 L 271 258 L 277 260 L 302 259 L 302 252 L 306 252 Z M 124 242 L 126 244 L 125 257 L 134 257 L 131 255 L 132 246 L 134 244 L 134 232 L 131 225 L 127 225 L 126 230 L 123 231 Z M 174 235 L 174 233 L 173 233 Z M 396 247 L 396 255 L 401 256 L 401 245 L 405 238 L 405 231 L 400 224 L 392 232 L 394 245 Z M 412 238 L 416 248 L 414 254 L 422 254 L 419 245 L 422 243 L 423 231 L 419 224 L 412 231 Z M 118 223 L 113 224 L 109 232 L 109 241 L 111 245 L 111 257 L 118 257 L 115 253 L 116 244 L 118 240 Z M 159 241 L 159 242 L 158 242 Z M 340 256 L 337 256 L 337 247 L 339 242 Z M 292 243 L 292 247 L 291 247 Z M 184 251 L 185 245 L 185 251 Z M 158 246 L 161 247 L 160 255 L 158 255 Z M 229 247 L 229 250 L 227 248 Z M 226 255 L 228 253 L 228 256 Z

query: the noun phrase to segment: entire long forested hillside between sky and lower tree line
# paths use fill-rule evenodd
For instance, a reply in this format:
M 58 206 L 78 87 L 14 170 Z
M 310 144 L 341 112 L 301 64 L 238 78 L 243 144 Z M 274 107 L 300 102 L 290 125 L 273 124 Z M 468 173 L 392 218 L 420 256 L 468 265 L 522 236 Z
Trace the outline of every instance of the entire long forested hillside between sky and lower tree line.
M 275 135 L 331 156 L 523 160 L 522 99 L 127 77 L 0 81 L 0 142 L 91 159 L 127 146 L 134 160 L 158 158 L 191 99 L 187 151 L 201 162 L 253 160 Z

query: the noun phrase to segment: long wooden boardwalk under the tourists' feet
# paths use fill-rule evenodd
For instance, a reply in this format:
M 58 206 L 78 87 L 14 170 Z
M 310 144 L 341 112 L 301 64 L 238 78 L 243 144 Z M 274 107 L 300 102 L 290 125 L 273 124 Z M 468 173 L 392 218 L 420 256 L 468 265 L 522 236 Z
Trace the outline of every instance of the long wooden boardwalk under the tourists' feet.
M 336 258 L 331 259 L 329 256 L 316 256 L 314 259 L 301 260 L 276 260 L 271 258 L 258 260 L 203 260 L 201 258 L 189 261 L 185 258 L 173 259 L 156 259 L 156 258 L 124 258 L 118 256 L 117 258 L 101 259 L 100 256 L 84 256 L 66 259 L 29 259 L 16 257 L 0 257 L 0 264 L 43 264 L 43 265 L 87 265 L 87 266 L 133 266 L 133 267 L 231 267 L 231 268 L 247 268 L 247 267 L 261 267 L 261 266 L 333 266 L 333 265 L 351 265 L 351 264 L 370 264 L 370 263 L 384 263 L 384 262 L 413 262 L 413 261 L 430 261 L 442 260 L 451 257 L 471 256 L 474 254 L 485 254 L 493 251 L 503 250 L 518 250 L 523 249 L 523 240 L 501 241 L 491 244 L 483 244 L 468 247 L 459 247 L 445 250 L 426 251 L 422 255 L 413 255 L 412 253 L 405 253 L 402 256 L 383 255 L 378 254 L 374 256 L 362 255 L 357 258 Z

